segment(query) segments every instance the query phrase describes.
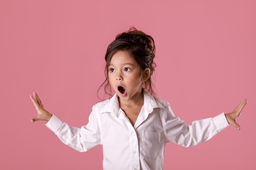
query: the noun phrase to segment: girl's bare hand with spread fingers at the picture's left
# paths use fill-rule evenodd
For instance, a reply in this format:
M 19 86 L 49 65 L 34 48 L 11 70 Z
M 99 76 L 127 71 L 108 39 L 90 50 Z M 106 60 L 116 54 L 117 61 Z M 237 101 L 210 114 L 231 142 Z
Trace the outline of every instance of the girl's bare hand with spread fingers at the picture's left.
M 37 116 L 31 119 L 31 122 L 38 121 L 38 120 L 44 120 L 44 121 L 49 121 L 52 118 L 52 114 L 47 112 L 43 108 L 43 104 L 41 100 L 39 99 L 38 95 L 36 92 L 33 93 L 34 97 L 30 95 L 30 99 L 33 102 L 36 111 L 37 111 Z

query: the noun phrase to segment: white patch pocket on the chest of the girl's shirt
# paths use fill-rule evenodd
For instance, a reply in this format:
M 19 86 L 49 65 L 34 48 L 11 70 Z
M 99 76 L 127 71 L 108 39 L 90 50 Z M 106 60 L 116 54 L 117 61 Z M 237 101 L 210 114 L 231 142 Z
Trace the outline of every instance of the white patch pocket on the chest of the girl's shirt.
M 143 131 L 143 150 L 146 157 L 157 157 L 160 149 L 160 132 Z

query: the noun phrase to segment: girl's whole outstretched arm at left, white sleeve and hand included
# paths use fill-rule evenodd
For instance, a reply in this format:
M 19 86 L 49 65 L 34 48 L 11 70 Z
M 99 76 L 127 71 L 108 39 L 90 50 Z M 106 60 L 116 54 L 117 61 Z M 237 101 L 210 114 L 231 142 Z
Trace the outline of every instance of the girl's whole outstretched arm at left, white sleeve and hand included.
M 85 152 L 90 148 L 101 144 L 99 120 L 97 119 L 95 109 L 89 116 L 89 123 L 81 128 L 76 128 L 68 126 L 56 116 L 47 112 L 43 108 L 42 102 L 35 92 L 34 97 L 30 95 L 30 98 L 38 112 L 37 117 L 34 117 L 31 121 L 47 121 L 45 125 L 52 130 L 64 144 L 79 152 Z

